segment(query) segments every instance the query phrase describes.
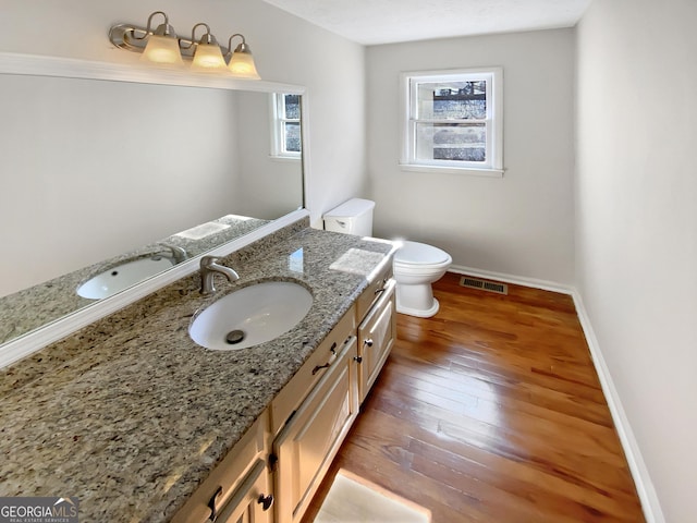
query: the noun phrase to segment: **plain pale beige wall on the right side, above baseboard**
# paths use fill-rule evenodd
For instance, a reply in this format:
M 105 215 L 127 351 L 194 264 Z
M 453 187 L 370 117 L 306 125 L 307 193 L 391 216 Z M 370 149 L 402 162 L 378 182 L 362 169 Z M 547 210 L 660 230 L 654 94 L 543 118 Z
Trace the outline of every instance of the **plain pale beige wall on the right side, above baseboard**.
M 675 523 L 697 514 L 695 20 L 692 0 L 596 0 L 578 28 L 577 284 L 650 521 L 660 499 Z

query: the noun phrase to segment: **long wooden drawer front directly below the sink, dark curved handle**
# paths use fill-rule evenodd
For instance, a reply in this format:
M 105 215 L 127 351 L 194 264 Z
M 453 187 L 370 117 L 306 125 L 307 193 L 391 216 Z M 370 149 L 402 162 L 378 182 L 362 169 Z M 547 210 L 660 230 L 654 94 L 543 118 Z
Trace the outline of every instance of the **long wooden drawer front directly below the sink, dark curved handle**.
M 355 333 L 355 312 L 352 306 L 329 336 L 291 378 L 271 402 L 271 435 L 276 436 L 288 418 L 310 393 L 313 387 L 327 374 L 347 339 Z

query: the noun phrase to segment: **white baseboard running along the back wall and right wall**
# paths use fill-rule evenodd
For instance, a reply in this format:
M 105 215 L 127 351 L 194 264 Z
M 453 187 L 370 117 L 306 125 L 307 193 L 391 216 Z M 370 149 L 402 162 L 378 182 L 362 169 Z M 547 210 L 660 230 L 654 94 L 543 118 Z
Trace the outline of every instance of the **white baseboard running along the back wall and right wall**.
M 660 500 L 656 492 L 656 488 L 653 487 L 653 482 L 649 476 L 648 469 L 646 467 L 646 463 L 641 457 L 641 451 L 634 436 L 634 431 L 632 430 L 632 426 L 629 425 L 629 419 L 622 406 L 620 394 L 612 381 L 610 369 L 608 368 L 602 355 L 600 344 L 598 343 L 598 339 L 596 338 L 596 333 L 590 324 L 590 318 L 588 317 L 588 313 L 578 290 L 572 285 L 564 285 L 553 281 L 537 280 L 534 278 L 517 277 L 501 272 L 491 272 L 470 267 L 451 266 L 449 270 L 460 275 L 475 276 L 502 281 L 504 283 L 542 289 L 545 291 L 560 292 L 572 296 L 576 307 L 576 314 L 578 315 L 578 320 L 580 321 L 580 327 L 586 337 L 586 342 L 588 343 L 590 357 L 592 358 L 596 373 L 600 379 L 602 392 L 610 409 L 610 415 L 614 422 L 617 436 L 620 437 L 620 443 L 622 445 L 622 449 L 626 455 L 629 472 L 636 485 L 637 495 L 644 510 L 644 516 L 646 518 L 647 523 L 665 523 L 665 516 L 663 515 Z

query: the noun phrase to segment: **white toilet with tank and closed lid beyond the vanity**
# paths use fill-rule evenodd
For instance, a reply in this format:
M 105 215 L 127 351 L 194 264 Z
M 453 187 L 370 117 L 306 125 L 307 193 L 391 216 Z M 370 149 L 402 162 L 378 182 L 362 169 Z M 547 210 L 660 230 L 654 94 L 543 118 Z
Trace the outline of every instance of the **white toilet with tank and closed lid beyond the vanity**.
M 353 198 L 325 214 L 325 229 L 360 236 L 372 235 L 375 202 Z M 394 255 L 398 313 L 428 318 L 438 312 L 431 283 L 440 279 L 450 265 L 451 256 L 432 245 L 404 242 Z

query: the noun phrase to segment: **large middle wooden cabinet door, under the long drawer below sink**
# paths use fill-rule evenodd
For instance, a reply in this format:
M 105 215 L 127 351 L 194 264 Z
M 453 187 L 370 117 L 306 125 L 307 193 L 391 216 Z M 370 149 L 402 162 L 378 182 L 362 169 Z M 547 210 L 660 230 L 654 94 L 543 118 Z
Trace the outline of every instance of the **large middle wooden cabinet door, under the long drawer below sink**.
M 358 414 L 356 337 L 351 337 L 273 442 L 277 523 L 301 520 Z

